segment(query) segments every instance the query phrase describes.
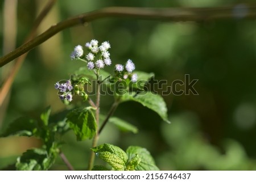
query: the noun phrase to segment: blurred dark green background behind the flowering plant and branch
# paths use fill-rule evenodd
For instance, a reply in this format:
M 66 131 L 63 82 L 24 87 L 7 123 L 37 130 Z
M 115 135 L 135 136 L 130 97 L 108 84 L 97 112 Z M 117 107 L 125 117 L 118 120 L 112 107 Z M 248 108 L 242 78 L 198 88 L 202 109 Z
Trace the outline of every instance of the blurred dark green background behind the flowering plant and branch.
M 18 1 L 15 46 L 22 44 L 46 2 Z M 61 0 L 38 34 L 73 15 L 108 6 L 217 7 L 241 2 L 249 6 L 254 1 Z M 3 31 L 4 7 L 1 1 L 0 50 L 5 49 L 4 36 L 10 36 Z M 137 126 L 139 133 L 122 133 L 108 124 L 99 144 L 112 143 L 124 150 L 130 145 L 146 147 L 161 170 L 256 170 L 256 21 L 252 19 L 196 23 L 105 18 L 65 29 L 28 54 L 1 106 L 0 131 L 20 116 L 39 117 L 48 105 L 53 114 L 63 111 L 66 107 L 58 99 L 54 83 L 68 79 L 69 74 L 85 66 L 71 61 L 69 54 L 74 46 L 92 39 L 110 42 L 113 65 L 124 64 L 130 58 L 137 70 L 155 73 L 155 78 L 167 80 L 168 86 L 176 79 L 184 81 L 185 74 L 199 79 L 195 84 L 199 95 L 163 96 L 170 125 L 138 103 L 124 103 L 115 116 Z M 0 56 L 3 54 L 1 51 Z M 1 67 L 1 84 L 11 65 Z M 102 113 L 108 112 L 112 101 L 110 96 L 102 98 Z M 84 170 L 91 141 L 76 142 L 72 132 L 63 139 L 67 158 L 76 170 Z M 40 141 L 0 138 L 0 146 L 0 168 L 4 168 L 15 163 L 23 151 L 40 146 Z M 96 160 L 96 164 L 100 163 Z M 58 159 L 52 170 L 67 168 Z

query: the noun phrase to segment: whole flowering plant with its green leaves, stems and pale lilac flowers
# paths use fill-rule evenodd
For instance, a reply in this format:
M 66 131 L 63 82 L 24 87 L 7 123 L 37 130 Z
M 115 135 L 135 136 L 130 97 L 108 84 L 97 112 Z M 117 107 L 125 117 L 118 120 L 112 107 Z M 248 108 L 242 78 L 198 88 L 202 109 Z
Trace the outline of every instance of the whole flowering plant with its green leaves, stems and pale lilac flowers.
M 98 46 L 98 41 L 92 40 L 85 44 L 85 48 L 89 50 L 88 54 L 85 54 L 81 45 L 75 46 L 71 53 L 71 59 L 86 62 L 87 66 L 80 67 L 79 70 L 75 71 L 75 77 L 71 77 L 68 81 L 55 83 L 59 99 L 64 104 L 69 105 L 75 96 L 80 96 L 84 105 L 71 109 L 58 122 L 49 121 L 51 108 L 48 107 L 40 115 L 40 120 L 18 118 L 1 135 L 2 137 L 11 135 L 35 136 L 43 141 L 41 148 L 27 150 L 22 156 L 18 157 L 15 164 L 16 169 L 49 170 L 52 164 L 55 163 L 57 154 L 60 154 L 61 151 L 60 147 L 63 142 L 59 139 L 59 136 L 63 136 L 63 134 L 72 130 L 77 141 L 93 138 L 92 151 L 96 153 L 96 156 L 109 163 L 113 170 L 159 170 L 155 166 L 150 153 L 142 147 L 130 146 L 125 152 L 118 146 L 108 143 L 96 146 L 101 130 L 104 129 L 108 121 L 122 131 L 138 132 L 138 129 L 129 122 L 118 117 L 112 117 L 119 103 L 137 101 L 144 107 L 156 112 L 164 121 L 169 122 L 167 107 L 163 98 L 144 90 L 144 86 L 152 74 L 142 71 L 133 72 L 135 64 L 131 60 L 127 60 L 125 66 L 116 64 L 114 73 L 109 74 L 103 69 L 105 66 L 112 65 L 108 52 L 110 44 L 105 41 Z M 97 59 L 94 60 L 94 58 Z M 114 98 L 112 108 L 106 116 L 100 115 L 100 88 L 102 84 L 105 84 L 111 90 L 109 95 Z M 93 101 L 92 96 L 89 95 L 88 86 L 96 86 L 96 101 Z M 89 105 L 86 104 L 87 101 Z M 101 127 L 99 125 L 100 116 L 105 117 Z M 95 166 L 93 157 L 90 158 L 88 169 L 108 170 L 104 166 Z

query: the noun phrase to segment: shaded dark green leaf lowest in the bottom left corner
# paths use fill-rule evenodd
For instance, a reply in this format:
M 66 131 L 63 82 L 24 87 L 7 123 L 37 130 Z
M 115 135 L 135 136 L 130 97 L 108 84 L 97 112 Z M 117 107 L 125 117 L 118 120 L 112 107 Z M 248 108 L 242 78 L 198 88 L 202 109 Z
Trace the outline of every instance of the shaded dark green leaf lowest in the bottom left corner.
M 30 149 L 17 159 L 16 170 L 38 171 L 48 170 L 55 162 L 55 157 L 44 149 Z

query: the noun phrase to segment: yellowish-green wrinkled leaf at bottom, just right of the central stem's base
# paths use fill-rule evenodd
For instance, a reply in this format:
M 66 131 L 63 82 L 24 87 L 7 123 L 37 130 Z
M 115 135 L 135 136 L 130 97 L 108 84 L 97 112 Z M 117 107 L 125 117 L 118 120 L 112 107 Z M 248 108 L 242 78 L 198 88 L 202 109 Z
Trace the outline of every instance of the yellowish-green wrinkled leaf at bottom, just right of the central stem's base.
M 100 146 L 92 148 L 92 150 L 99 158 L 109 163 L 110 166 L 112 166 L 115 170 L 125 170 L 125 164 L 128 159 L 127 154 L 119 147 L 104 143 Z

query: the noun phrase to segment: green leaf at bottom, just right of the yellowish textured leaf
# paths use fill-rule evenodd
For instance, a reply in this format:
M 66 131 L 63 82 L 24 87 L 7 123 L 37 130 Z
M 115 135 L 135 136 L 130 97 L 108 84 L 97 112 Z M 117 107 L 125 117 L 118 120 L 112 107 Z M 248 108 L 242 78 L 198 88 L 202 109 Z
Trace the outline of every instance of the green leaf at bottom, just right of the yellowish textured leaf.
M 128 155 L 128 161 L 130 163 L 130 165 L 129 163 L 127 164 L 127 167 L 132 166 L 131 164 L 133 164 L 134 166 L 137 164 L 137 166 L 134 168 L 136 171 L 158 171 L 159 170 L 159 168 L 156 167 L 155 161 L 147 149 L 139 146 L 130 146 L 126 150 L 126 153 Z M 140 162 L 138 158 L 141 159 Z

